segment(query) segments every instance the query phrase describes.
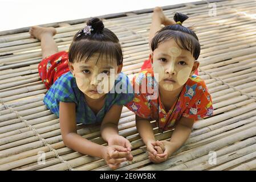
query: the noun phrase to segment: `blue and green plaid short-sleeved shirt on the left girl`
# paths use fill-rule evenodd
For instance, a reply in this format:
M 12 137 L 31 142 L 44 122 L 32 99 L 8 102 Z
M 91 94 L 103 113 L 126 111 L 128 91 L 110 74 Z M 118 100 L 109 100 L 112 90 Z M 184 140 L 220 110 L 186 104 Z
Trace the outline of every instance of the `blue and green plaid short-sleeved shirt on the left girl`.
M 117 85 L 118 84 L 118 85 Z M 119 73 L 115 80 L 115 86 L 132 89 L 129 78 L 124 73 Z M 113 91 L 114 90 L 114 91 Z M 103 121 L 107 111 L 114 105 L 125 105 L 133 100 L 134 94 L 117 93 L 115 87 L 112 92 L 105 96 L 105 104 L 103 108 L 95 115 L 94 111 L 86 104 L 84 94 L 76 85 L 75 77 L 71 72 L 67 72 L 60 76 L 44 96 L 43 102 L 47 108 L 59 117 L 59 102 L 75 102 L 76 105 L 76 123 L 94 124 Z

